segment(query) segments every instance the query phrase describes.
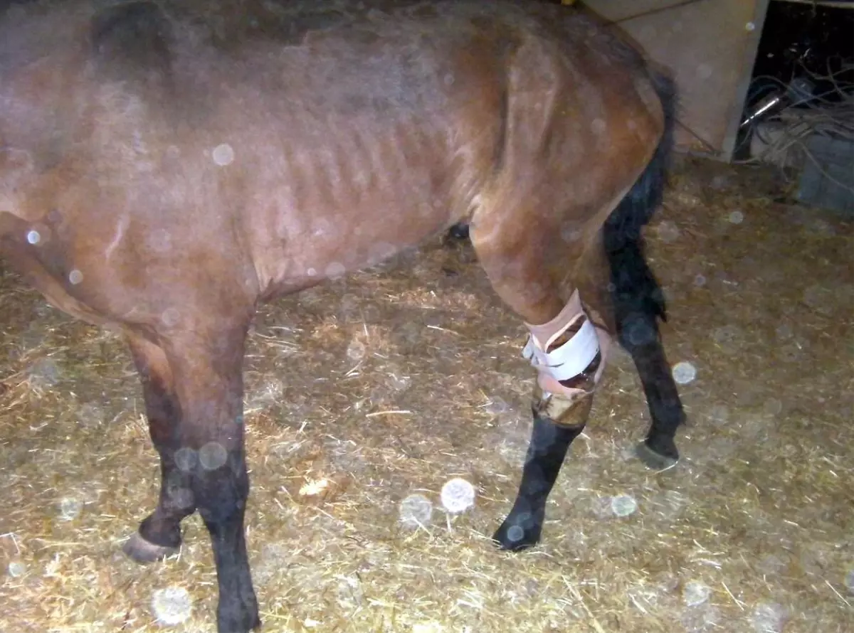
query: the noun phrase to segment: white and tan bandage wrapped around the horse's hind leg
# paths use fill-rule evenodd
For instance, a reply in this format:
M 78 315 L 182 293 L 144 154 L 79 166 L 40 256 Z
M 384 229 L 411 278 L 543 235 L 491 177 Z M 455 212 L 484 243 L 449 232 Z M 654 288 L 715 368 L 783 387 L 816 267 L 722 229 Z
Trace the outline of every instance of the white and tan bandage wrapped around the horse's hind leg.
M 587 415 L 576 404 L 592 396 L 599 383 L 610 336 L 590 320 L 577 290 L 550 322 L 526 325 L 530 336 L 522 353 L 538 373 L 535 413 L 561 426 L 583 424 Z

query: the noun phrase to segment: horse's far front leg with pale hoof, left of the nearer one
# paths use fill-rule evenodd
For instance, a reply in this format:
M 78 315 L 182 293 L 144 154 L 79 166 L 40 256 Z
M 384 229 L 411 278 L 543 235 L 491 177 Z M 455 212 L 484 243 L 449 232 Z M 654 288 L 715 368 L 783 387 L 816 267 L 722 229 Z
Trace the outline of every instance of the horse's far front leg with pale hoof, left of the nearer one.
M 143 383 L 145 413 L 149 433 L 161 459 L 160 499 L 127 543 L 125 554 L 139 563 L 160 560 L 178 551 L 181 520 L 196 509 L 190 487 L 190 473 L 181 463 L 176 430 L 181 407 L 173 386 L 172 369 L 160 346 L 136 334 L 127 336 L 133 362 Z M 183 466 L 183 468 L 182 468 Z

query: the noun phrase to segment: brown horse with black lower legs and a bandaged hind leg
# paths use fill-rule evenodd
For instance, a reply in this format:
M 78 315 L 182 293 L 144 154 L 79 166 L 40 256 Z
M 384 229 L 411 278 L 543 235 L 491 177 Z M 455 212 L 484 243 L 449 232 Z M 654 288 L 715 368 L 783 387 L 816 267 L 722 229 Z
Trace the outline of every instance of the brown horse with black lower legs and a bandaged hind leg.
M 126 544 L 172 554 L 198 510 L 219 633 L 260 624 L 243 531 L 245 338 L 260 300 L 460 222 L 529 326 L 534 427 L 495 533 L 540 537 L 608 333 L 683 420 L 640 230 L 674 95 L 579 9 L 503 0 L 0 3 L 0 253 L 63 311 L 118 328 L 142 377 L 160 500 Z

